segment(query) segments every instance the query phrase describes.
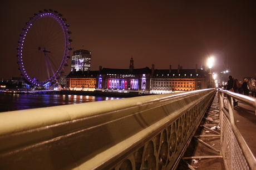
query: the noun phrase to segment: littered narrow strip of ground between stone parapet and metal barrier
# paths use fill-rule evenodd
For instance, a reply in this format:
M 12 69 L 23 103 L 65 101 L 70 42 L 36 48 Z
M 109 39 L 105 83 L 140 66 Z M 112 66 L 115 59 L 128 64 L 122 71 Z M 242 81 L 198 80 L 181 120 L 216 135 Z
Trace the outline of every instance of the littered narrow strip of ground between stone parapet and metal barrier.
M 218 94 L 205 112 L 178 169 L 225 169 L 220 155 Z

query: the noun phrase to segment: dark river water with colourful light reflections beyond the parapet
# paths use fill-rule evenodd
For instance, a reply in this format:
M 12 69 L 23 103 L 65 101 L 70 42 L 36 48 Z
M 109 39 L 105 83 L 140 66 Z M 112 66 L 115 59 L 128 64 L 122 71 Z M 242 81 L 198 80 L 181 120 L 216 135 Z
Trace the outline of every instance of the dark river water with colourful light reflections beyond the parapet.
M 120 97 L 97 97 L 85 95 L 53 94 L 9 94 L 0 92 L 0 112 L 34 109 L 60 105 L 73 105 L 102 100 L 116 100 Z

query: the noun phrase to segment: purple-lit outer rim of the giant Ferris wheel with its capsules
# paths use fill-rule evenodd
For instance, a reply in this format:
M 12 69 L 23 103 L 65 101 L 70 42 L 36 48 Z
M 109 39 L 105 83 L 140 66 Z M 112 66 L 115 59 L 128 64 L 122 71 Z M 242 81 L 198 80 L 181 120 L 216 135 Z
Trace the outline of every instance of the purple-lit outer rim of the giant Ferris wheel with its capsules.
M 50 12 L 49 12 L 50 11 Z M 45 12 L 40 11 L 40 13 L 35 13 L 33 17 L 31 17 L 29 19 L 28 22 L 26 22 L 25 27 L 22 28 L 22 33 L 19 35 L 19 41 L 18 41 L 18 48 L 17 48 L 17 58 L 18 58 L 18 65 L 19 65 L 19 70 L 21 71 L 21 75 L 29 82 L 32 83 L 34 85 L 45 85 L 50 81 L 55 81 L 61 74 L 62 71 L 64 70 L 65 66 L 67 66 L 67 61 L 70 58 L 69 53 L 70 50 L 72 49 L 70 47 L 70 44 L 72 42 L 72 40 L 70 39 L 70 34 L 71 32 L 68 30 L 69 24 L 66 24 L 65 18 L 62 18 L 62 14 L 58 14 L 57 15 L 57 11 L 53 11 L 53 10 L 46 10 Z M 63 52 L 63 57 L 62 57 L 62 61 L 60 63 L 60 66 L 58 66 L 58 69 L 55 71 L 55 73 L 48 79 L 43 80 L 43 81 L 38 81 L 36 79 L 31 78 L 27 72 L 26 72 L 26 68 L 24 68 L 23 65 L 23 45 L 25 42 L 25 38 L 26 35 L 30 29 L 30 27 L 39 19 L 41 18 L 45 18 L 45 17 L 51 17 L 53 19 L 55 19 L 58 24 L 60 24 L 62 31 L 63 31 L 63 36 L 65 37 L 65 51 Z

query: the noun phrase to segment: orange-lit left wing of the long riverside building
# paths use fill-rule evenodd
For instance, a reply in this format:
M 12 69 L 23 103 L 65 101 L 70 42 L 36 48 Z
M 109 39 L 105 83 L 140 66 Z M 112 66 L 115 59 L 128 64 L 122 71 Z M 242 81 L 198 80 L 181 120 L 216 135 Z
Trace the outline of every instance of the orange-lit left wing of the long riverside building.
M 66 78 L 66 88 L 76 91 L 95 91 L 99 71 L 71 71 Z

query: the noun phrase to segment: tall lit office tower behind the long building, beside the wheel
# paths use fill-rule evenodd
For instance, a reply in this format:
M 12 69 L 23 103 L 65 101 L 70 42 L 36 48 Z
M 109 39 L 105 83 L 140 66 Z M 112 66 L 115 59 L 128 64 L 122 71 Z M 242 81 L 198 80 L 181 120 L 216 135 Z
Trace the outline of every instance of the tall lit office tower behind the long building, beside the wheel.
M 76 50 L 73 51 L 71 58 L 71 71 L 90 71 L 91 51 Z

